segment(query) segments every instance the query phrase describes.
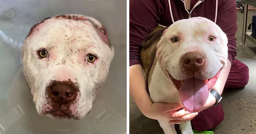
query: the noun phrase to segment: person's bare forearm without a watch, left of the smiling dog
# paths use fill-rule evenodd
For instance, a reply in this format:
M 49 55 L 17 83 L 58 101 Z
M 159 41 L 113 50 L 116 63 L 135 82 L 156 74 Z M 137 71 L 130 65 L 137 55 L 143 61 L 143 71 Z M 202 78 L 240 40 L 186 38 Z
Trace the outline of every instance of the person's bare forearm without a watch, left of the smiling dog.
M 149 111 L 152 101 L 146 91 L 145 77 L 143 75 L 143 68 L 140 64 L 129 67 L 129 80 L 130 80 L 130 95 L 139 107 L 140 111 L 145 115 Z M 145 115 L 147 116 L 147 115 Z

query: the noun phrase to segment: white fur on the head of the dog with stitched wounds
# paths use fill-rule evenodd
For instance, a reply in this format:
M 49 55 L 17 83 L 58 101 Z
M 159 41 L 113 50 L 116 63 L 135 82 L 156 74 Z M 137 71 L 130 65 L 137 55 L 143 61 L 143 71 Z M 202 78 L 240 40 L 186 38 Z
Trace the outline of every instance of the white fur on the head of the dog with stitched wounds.
M 48 58 L 38 58 L 40 48 L 48 50 Z M 89 21 L 50 18 L 26 38 L 22 54 L 24 74 L 37 112 L 42 114 L 43 106 L 49 102 L 45 90 L 50 80 L 71 79 L 79 86 L 78 103 L 72 107 L 76 107 L 75 118 L 81 119 L 91 110 L 98 88 L 108 76 L 114 50 L 103 42 Z M 87 54 L 96 54 L 98 59 L 88 63 Z

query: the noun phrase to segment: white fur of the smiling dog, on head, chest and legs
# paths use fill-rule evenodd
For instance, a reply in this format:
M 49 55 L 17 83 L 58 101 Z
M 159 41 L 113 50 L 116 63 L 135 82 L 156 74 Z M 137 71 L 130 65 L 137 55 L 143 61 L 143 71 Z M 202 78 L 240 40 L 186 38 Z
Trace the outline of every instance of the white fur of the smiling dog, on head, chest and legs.
M 217 37 L 215 42 L 208 41 L 208 36 Z M 171 38 L 178 36 L 180 41 L 173 43 Z M 202 78 L 210 79 L 227 64 L 227 37 L 212 21 L 196 17 L 176 21 L 170 25 L 157 44 L 157 64 L 149 83 L 150 97 L 153 102 L 181 103 L 176 87 L 168 74 L 176 80 L 185 80 L 190 76 L 181 72 L 180 58 L 191 51 L 204 54 L 209 62 L 202 72 Z M 161 61 L 159 61 L 161 60 Z M 176 134 L 168 121 L 159 121 L 165 134 Z M 190 122 L 180 125 L 182 134 L 193 134 Z

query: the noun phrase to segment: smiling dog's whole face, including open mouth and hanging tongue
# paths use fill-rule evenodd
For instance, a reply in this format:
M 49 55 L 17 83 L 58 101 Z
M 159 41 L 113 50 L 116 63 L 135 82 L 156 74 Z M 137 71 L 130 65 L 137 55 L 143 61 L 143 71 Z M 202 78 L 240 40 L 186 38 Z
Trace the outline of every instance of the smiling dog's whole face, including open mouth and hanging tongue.
M 157 60 L 189 112 L 200 111 L 227 64 L 227 37 L 212 21 L 179 20 L 157 44 Z

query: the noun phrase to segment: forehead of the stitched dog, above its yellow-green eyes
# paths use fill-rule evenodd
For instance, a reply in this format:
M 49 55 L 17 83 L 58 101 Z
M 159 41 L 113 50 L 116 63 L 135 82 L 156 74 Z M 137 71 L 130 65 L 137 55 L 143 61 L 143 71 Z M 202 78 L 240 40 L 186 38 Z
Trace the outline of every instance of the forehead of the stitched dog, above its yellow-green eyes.
M 34 47 L 50 48 L 60 44 L 72 47 L 110 44 L 106 29 L 97 20 L 75 15 L 46 18 L 31 28 L 26 42 Z

